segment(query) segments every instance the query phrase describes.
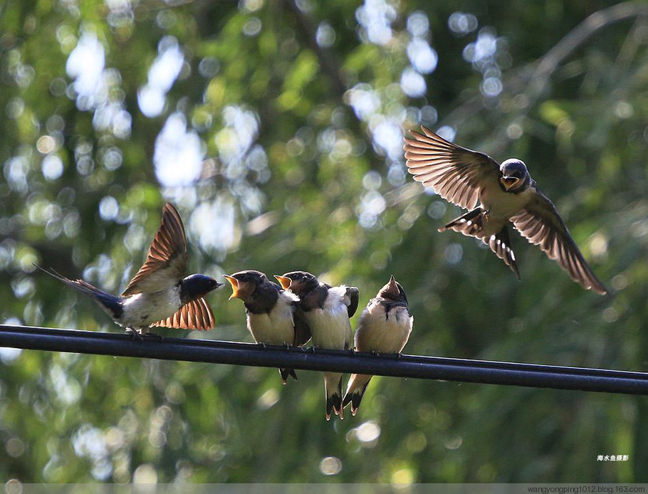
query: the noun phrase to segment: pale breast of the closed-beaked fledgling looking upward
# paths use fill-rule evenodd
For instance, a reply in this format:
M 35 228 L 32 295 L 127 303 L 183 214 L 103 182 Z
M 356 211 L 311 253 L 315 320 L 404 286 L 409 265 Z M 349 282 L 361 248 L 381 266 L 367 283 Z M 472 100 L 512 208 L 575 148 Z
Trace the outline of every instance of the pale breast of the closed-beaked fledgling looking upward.
M 355 348 L 358 352 L 400 352 L 412 332 L 414 316 L 407 308 L 398 307 L 385 317 L 385 307 L 370 303 L 362 311 L 355 332 Z

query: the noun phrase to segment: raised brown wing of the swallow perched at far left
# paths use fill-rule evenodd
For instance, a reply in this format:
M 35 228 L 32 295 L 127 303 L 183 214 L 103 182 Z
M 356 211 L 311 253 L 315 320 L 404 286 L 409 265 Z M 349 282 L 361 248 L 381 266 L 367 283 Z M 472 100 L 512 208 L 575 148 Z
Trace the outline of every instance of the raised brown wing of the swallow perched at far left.
M 178 211 L 167 202 L 162 209 L 162 224 L 151 242 L 146 261 L 122 295 L 164 290 L 178 283 L 186 274 L 187 236 Z

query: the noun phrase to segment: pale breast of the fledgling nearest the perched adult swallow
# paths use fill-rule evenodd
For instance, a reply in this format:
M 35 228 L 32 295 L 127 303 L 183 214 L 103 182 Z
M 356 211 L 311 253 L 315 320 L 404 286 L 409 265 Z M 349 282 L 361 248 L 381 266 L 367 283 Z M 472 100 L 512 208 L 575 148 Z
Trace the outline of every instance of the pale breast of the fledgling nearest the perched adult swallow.
M 295 338 L 293 322 L 293 300 L 296 295 L 280 293 L 276 305 L 268 314 L 252 314 L 248 312 L 248 329 L 254 341 L 266 345 L 292 345 Z M 299 300 L 299 299 L 297 299 Z

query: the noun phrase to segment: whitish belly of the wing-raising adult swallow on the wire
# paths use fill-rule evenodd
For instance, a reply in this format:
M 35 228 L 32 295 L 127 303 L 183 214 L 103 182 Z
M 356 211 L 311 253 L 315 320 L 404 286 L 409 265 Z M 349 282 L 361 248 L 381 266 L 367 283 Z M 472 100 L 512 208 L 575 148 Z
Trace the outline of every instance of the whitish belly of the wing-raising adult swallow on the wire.
M 120 325 L 124 327 L 148 327 L 173 315 L 182 307 L 179 286 L 157 293 L 135 293 L 125 299 Z

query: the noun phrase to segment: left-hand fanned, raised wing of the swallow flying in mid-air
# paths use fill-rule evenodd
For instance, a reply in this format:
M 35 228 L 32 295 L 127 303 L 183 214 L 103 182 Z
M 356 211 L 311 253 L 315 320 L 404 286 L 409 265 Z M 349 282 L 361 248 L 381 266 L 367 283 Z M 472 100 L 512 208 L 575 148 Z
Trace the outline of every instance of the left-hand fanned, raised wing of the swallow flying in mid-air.
M 439 196 L 465 209 L 474 209 L 483 187 L 495 186 L 501 173 L 487 154 L 457 146 L 426 127 L 405 138 L 407 171 Z

